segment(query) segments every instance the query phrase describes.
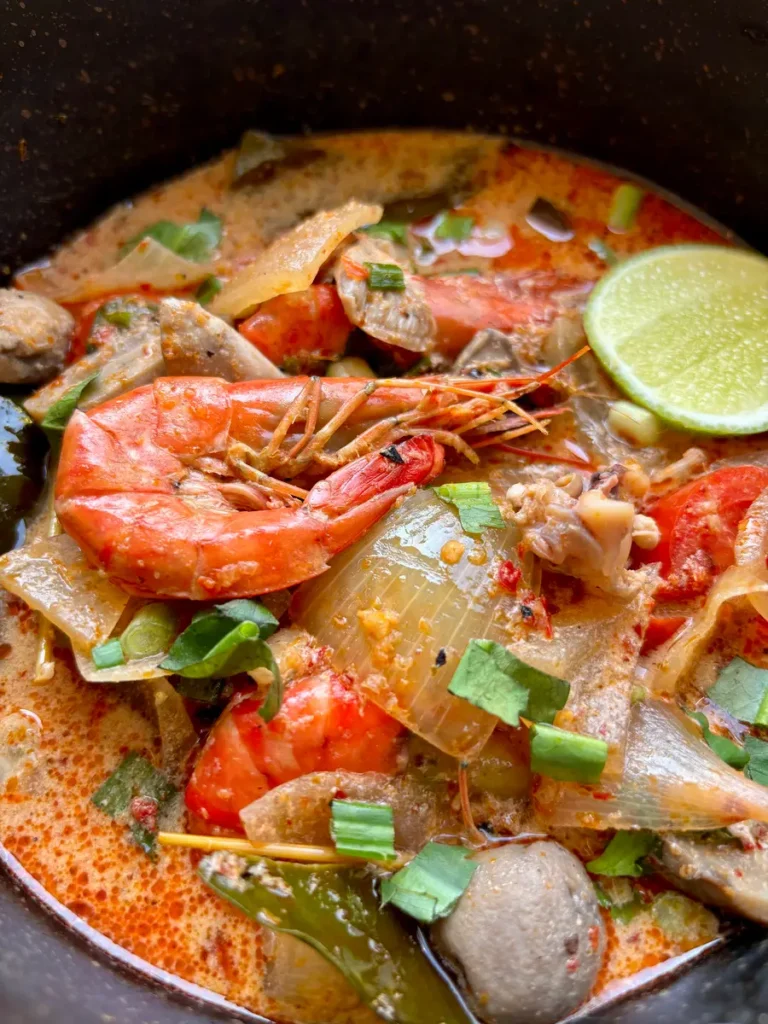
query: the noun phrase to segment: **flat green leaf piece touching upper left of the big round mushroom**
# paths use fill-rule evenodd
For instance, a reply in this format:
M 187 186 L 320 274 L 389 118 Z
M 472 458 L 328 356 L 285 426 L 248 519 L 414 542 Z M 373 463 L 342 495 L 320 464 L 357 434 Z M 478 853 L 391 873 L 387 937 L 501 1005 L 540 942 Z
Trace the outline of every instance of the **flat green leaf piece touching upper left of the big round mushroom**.
M 477 864 L 463 846 L 427 843 L 420 853 L 381 886 L 381 904 L 393 903 L 425 925 L 445 918 L 459 902 Z

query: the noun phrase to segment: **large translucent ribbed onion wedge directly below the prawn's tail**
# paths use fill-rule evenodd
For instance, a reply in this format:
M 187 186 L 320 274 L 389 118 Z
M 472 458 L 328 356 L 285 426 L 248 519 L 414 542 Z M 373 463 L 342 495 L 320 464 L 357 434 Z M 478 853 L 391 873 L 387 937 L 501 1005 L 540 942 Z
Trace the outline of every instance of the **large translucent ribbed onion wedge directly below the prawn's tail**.
M 472 757 L 497 720 L 447 687 L 473 637 L 514 638 L 515 602 L 496 577 L 516 540 L 511 527 L 468 537 L 444 502 L 421 490 L 299 588 L 294 622 L 332 647 L 336 667 L 354 671 L 362 692 L 412 732 Z

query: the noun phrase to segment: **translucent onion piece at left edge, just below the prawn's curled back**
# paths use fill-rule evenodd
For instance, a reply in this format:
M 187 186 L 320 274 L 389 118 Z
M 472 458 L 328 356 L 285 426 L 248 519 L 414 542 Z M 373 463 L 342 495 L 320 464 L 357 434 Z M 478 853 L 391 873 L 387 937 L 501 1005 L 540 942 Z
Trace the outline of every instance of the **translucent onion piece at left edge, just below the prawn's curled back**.
M 66 534 L 3 555 L 0 584 L 85 650 L 112 635 L 128 603 L 125 591 L 91 568 Z

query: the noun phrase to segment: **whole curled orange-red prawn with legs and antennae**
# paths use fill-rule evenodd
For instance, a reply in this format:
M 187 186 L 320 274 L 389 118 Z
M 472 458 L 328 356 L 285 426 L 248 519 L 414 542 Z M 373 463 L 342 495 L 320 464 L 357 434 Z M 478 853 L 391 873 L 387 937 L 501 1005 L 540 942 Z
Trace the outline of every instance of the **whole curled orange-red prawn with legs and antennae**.
M 452 428 L 509 403 L 489 403 L 487 384 L 462 383 L 457 394 L 429 380 L 160 379 L 74 414 L 56 514 L 94 564 L 139 596 L 289 587 L 433 479 L 443 442 L 472 455 Z M 285 479 L 329 471 L 309 490 Z

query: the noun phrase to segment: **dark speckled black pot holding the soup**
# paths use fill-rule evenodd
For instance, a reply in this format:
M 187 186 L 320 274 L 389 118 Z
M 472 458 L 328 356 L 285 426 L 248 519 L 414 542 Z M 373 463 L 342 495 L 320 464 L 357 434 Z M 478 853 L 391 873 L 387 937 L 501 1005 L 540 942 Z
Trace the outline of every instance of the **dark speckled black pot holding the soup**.
M 767 101 L 765 0 L 3 0 L 0 279 L 247 127 L 521 136 L 766 249 Z M 2 1024 L 258 1019 L 99 942 L 1 847 L 0 865 Z M 766 965 L 744 930 L 580 1019 L 768 1024 Z

